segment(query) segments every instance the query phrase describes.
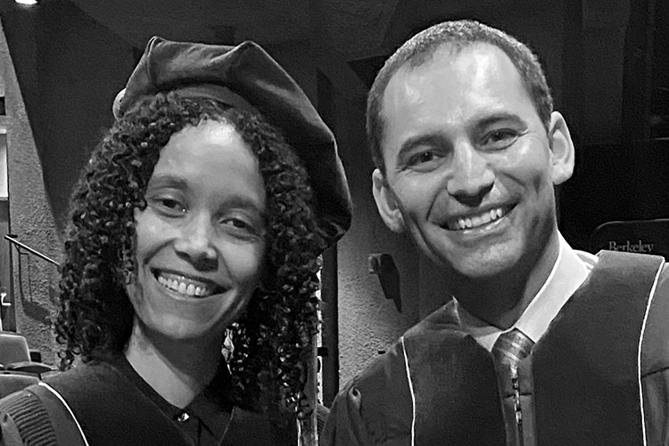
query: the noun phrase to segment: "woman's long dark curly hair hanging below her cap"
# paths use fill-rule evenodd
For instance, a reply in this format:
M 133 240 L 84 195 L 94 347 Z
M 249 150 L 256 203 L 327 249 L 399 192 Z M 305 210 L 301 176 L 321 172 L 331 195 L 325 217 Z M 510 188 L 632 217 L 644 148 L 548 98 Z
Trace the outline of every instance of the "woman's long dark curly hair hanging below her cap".
M 157 95 L 118 120 L 95 148 L 70 203 L 60 310 L 60 368 L 124 351 L 134 310 L 126 293 L 135 274 L 134 209 L 170 136 L 202 120 L 230 123 L 251 148 L 265 184 L 265 258 L 261 284 L 244 314 L 228 327 L 235 402 L 264 401 L 304 414 L 302 390 L 311 338 L 318 329 L 318 235 L 306 171 L 277 128 L 261 116 L 211 100 Z

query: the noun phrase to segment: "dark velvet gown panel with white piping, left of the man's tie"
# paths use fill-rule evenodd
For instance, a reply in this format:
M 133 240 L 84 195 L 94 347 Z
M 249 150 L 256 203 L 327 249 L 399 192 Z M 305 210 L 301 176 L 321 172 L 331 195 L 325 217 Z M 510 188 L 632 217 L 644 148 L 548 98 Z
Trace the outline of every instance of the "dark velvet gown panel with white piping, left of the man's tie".
M 416 444 L 506 444 L 490 352 L 459 328 L 407 336 L 404 349 Z

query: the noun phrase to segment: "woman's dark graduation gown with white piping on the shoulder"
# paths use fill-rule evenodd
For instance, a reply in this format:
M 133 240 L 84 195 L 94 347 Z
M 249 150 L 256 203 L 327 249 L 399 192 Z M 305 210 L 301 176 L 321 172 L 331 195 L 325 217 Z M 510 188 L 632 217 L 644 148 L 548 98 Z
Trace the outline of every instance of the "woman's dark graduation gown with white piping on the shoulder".
M 296 442 L 295 429 L 277 428 L 264 414 L 233 405 L 222 410 L 229 417 L 221 446 Z M 4 446 L 192 444 L 128 376 L 103 361 L 91 361 L 4 398 L 0 427 Z

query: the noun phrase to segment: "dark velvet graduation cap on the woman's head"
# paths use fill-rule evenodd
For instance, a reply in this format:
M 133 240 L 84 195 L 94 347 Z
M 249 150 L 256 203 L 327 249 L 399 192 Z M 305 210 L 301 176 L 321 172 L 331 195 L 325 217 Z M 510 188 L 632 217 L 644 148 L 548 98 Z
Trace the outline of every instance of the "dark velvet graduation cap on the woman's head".
M 316 194 L 318 227 L 328 244 L 351 226 L 351 195 L 335 136 L 293 78 L 259 45 L 205 45 L 152 37 L 114 101 L 114 116 L 119 119 L 135 103 L 169 91 L 260 112 L 283 131 L 307 169 Z

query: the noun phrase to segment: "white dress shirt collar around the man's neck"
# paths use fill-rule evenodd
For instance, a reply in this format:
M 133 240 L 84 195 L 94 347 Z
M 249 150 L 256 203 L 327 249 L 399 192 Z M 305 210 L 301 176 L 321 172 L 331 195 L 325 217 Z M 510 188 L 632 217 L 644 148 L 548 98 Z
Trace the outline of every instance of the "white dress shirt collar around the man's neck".
M 558 259 L 550 271 L 549 277 L 521 317 L 518 318 L 516 324 L 507 330 L 500 330 L 500 328 L 476 318 L 461 305 L 458 305 L 457 299 L 454 298 L 455 311 L 460 326 L 488 351 L 492 350 L 492 345 L 502 333 L 514 328 L 518 328 L 529 336 L 534 343 L 539 341 L 541 336 L 546 333 L 550 322 L 558 315 L 559 310 L 562 309 L 574 291 L 582 285 L 598 260 L 597 256 L 591 253 L 574 251 L 562 235 L 559 235 L 559 244 Z

